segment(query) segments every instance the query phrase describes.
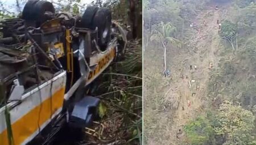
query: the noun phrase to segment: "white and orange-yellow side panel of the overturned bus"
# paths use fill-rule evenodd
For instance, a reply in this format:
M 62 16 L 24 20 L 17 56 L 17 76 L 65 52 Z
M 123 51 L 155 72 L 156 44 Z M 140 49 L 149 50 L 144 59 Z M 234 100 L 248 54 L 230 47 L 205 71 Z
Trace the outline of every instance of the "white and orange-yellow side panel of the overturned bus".
M 60 113 L 65 92 L 66 73 L 63 72 L 23 95 L 23 100 L 10 110 L 14 144 L 26 144 Z M 51 90 L 51 91 L 50 91 Z M 26 96 L 26 97 L 24 97 Z M 3 107 L 4 108 L 4 107 Z M 9 144 L 5 111 L 0 111 L 0 144 Z

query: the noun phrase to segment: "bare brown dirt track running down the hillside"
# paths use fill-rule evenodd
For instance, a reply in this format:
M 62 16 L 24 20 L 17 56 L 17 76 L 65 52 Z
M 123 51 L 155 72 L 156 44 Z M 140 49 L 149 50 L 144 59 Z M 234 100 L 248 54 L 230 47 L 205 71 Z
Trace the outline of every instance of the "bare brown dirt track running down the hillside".
M 181 71 L 183 78 L 178 78 L 179 80 L 174 84 L 177 86 L 176 92 L 180 97 L 174 117 L 174 125 L 170 133 L 174 144 L 178 144 L 179 140 L 183 140 L 183 135 L 177 138 L 174 133 L 178 132 L 182 126 L 190 119 L 195 118 L 204 109 L 210 78 L 209 64 L 212 63 L 213 67 L 218 64 L 217 54 L 220 38 L 218 36 L 217 20 L 221 20 L 220 16 L 220 11 L 214 10 L 214 7 L 209 7 L 207 11 L 200 12 L 196 18 L 197 34 L 192 36 L 189 43 L 189 45 L 192 45 L 191 48 L 188 48 L 190 53 L 180 56 L 187 62 L 185 63 L 185 68 L 179 68 L 184 67 L 184 64 L 175 68 L 183 70 Z M 206 26 L 204 22 L 207 22 Z M 189 65 L 192 65 L 192 70 Z M 178 71 L 176 70 L 175 72 Z M 192 82 L 192 80 L 195 80 L 195 82 Z M 189 81 L 191 85 L 189 85 Z M 192 96 L 192 93 L 195 93 L 195 95 Z M 189 102 L 191 103 L 190 106 Z

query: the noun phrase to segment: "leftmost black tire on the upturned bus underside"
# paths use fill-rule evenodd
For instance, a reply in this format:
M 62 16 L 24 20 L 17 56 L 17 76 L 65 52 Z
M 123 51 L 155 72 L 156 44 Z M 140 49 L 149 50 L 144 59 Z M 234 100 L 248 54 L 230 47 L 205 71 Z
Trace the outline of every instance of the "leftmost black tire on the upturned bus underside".
M 46 19 L 44 13 L 50 11 L 55 13 L 55 9 L 51 2 L 47 1 L 28 1 L 22 11 L 22 18 L 24 20 L 35 20 L 42 24 Z

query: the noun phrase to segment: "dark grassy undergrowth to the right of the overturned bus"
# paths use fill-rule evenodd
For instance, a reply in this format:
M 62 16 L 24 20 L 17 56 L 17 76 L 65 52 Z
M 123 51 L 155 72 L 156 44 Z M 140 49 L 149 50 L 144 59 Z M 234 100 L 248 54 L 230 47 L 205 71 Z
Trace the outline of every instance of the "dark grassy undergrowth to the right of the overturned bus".
M 127 44 L 126 59 L 115 63 L 98 78 L 100 85 L 93 96 L 102 98 L 108 108 L 101 122 L 115 122 L 117 130 L 109 134 L 125 138 L 127 144 L 142 141 L 142 45 L 134 40 Z M 102 83 L 103 82 L 103 83 Z M 108 93 L 106 93 L 108 92 Z M 103 113 L 104 114 L 104 113 Z M 136 133 L 136 134 L 135 134 Z

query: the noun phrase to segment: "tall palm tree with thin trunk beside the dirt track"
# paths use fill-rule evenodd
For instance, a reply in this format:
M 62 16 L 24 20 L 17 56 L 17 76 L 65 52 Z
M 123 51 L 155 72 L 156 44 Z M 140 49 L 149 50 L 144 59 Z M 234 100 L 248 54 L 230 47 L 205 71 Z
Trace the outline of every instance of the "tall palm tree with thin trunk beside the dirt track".
M 150 40 L 155 40 L 158 43 L 161 43 L 164 49 L 164 72 L 167 71 L 166 64 L 166 47 L 167 43 L 171 43 L 174 47 L 181 47 L 181 42 L 171 35 L 176 31 L 176 27 L 174 27 L 171 23 L 163 23 L 161 22 L 159 26 L 152 31 L 152 35 Z M 167 77 L 167 76 L 166 76 Z

